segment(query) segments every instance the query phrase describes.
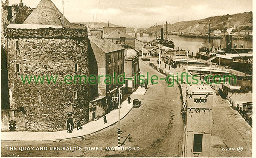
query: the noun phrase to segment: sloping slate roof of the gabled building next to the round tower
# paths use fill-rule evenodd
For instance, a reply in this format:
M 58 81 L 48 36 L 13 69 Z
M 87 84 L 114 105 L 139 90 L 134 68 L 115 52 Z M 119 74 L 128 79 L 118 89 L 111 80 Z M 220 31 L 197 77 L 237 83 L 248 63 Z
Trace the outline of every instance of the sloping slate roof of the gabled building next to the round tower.
M 93 42 L 95 45 L 97 45 L 105 53 L 110 53 L 110 52 L 119 51 L 119 50 L 124 49 L 121 46 L 116 45 L 115 43 L 113 43 L 105 38 L 88 36 L 88 39 L 90 40 L 90 42 Z

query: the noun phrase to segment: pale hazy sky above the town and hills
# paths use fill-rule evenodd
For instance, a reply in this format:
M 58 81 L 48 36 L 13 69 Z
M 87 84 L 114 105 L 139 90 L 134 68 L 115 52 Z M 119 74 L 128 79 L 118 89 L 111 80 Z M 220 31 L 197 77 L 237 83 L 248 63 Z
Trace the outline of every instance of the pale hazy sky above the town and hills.
M 4 0 L 3 0 L 4 1 Z M 41 0 L 22 0 L 35 8 Z M 252 11 L 253 0 L 64 0 L 64 15 L 71 22 L 104 22 L 148 28 L 156 23 L 176 23 Z M 62 0 L 52 0 L 62 12 Z M 9 0 L 18 4 L 20 0 Z

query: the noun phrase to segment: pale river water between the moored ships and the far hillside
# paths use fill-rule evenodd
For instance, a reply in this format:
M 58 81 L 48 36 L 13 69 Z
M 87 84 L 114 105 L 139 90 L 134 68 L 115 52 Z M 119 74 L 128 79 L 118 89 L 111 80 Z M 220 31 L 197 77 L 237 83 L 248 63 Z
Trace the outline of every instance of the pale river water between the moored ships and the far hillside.
M 131 35 L 131 34 L 129 34 Z M 133 34 L 134 35 L 134 34 Z M 155 39 L 155 35 L 153 34 L 152 37 L 149 37 L 149 34 L 143 34 L 143 37 L 140 37 L 140 34 L 137 33 L 137 39 L 143 40 L 143 41 L 152 41 Z M 165 36 L 164 36 L 165 37 Z M 186 51 L 193 52 L 193 56 L 196 55 L 196 52 L 198 52 L 199 48 L 204 46 L 209 46 L 208 39 L 204 38 L 189 38 L 189 37 L 179 37 L 176 35 L 169 35 L 169 39 L 172 39 L 175 47 L 180 47 L 182 49 L 185 49 Z M 221 47 L 226 47 L 226 40 L 223 39 L 211 39 L 210 40 L 210 46 L 212 44 L 215 44 L 215 47 L 218 47 L 221 45 Z M 252 48 L 253 47 L 253 41 L 252 40 L 233 40 L 233 43 L 236 43 L 237 45 L 244 44 L 245 48 Z

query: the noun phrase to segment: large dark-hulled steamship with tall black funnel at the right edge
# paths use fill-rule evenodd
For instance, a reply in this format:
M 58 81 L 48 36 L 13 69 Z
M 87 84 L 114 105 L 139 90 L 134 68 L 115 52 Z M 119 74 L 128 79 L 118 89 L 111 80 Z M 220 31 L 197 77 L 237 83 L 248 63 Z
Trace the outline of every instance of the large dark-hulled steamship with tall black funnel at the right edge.
M 232 35 L 226 36 L 226 48 L 218 48 L 218 50 L 212 50 L 212 48 L 199 48 L 197 58 L 252 74 L 253 48 L 244 48 L 243 45 L 232 47 Z

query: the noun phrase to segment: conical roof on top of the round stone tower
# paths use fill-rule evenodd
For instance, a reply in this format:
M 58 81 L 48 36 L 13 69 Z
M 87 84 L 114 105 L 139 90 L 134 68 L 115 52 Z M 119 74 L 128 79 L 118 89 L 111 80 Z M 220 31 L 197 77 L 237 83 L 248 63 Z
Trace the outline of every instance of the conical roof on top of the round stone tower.
M 72 26 L 66 17 L 64 19 L 65 27 Z M 51 0 L 41 0 L 23 24 L 63 26 L 63 14 Z

